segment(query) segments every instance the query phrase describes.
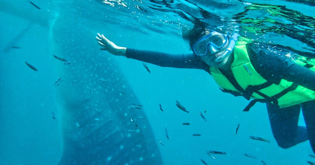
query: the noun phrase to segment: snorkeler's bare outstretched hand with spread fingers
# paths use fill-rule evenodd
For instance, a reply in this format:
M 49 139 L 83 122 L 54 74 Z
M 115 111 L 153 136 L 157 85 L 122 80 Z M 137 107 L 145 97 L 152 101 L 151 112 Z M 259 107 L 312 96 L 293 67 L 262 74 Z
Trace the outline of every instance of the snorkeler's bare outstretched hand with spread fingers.
M 114 44 L 112 41 L 108 40 L 103 34 L 97 33 L 96 40 L 103 47 L 101 50 L 107 50 L 109 53 L 115 56 L 126 56 L 125 47 L 120 47 Z

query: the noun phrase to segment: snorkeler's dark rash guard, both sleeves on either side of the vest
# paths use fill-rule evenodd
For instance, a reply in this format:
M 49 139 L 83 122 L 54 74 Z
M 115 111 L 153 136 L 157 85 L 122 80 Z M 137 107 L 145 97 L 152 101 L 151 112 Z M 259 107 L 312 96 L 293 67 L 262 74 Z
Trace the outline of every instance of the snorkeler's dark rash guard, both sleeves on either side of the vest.
M 285 57 L 292 50 L 262 43 L 247 44 L 249 59 L 256 71 L 267 81 L 279 84 L 281 79 L 315 91 L 315 72 Z M 209 65 L 195 54 L 168 54 L 157 51 L 127 48 L 126 57 L 161 67 L 202 69 L 210 73 Z

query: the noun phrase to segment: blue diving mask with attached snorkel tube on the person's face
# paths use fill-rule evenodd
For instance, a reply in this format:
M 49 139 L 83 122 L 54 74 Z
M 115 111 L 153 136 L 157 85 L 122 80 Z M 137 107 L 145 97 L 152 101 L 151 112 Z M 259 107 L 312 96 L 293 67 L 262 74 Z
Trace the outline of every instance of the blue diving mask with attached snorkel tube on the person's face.
M 229 40 L 229 45 L 226 48 L 225 52 L 215 58 L 215 62 L 221 62 L 221 59 L 224 59 L 226 56 L 229 56 L 234 49 L 235 43 L 238 40 L 238 34 L 234 34 L 232 37 L 227 37 L 226 34 L 222 34 L 212 31 L 210 34 L 198 39 L 193 45 L 192 45 L 192 51 L 197 56 L 206 56 L 206 55 L 213 55 L 219 52 L 227 43 Z M 210 54 L 210 52 L 212 52 Z

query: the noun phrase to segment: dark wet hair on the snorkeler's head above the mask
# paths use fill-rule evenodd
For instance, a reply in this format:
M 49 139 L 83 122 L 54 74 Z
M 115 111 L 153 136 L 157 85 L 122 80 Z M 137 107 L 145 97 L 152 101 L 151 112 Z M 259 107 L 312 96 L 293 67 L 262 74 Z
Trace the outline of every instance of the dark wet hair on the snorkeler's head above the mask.
M 192 45 L 201 38 L 206 27 L 205 23 L 195 22 L 192 29 L 187 27 L 183 28 L 182 37 L 189 42 L 190 49 L 192 49 Z

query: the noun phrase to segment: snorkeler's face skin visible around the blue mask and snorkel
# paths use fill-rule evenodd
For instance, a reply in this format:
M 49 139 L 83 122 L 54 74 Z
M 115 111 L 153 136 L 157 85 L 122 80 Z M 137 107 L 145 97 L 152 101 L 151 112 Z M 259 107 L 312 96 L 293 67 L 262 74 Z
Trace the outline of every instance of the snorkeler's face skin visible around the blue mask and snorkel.
M 210 32 L 208 30 L 205 30 L 203 34 L 204 37 L 206 35 L 209 35 Z M 225 36 L 218 32 L 214 32 L 213 36 L 215 36 L 216 38 L 221 38 L 222 39 L 221 42 L 225 43 L 225 45 L 221 47 L 219 50 L 210 49 L 206 56 L 201 56 L 200 58 L 211 67 L 221 68 L 226 65 L 231 56 L 231 54 L 227 56 L 222 56 L 229 45 L 229 40 L 227 39 L 227 41 L 225 42 L 226 39 Z

